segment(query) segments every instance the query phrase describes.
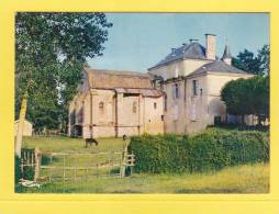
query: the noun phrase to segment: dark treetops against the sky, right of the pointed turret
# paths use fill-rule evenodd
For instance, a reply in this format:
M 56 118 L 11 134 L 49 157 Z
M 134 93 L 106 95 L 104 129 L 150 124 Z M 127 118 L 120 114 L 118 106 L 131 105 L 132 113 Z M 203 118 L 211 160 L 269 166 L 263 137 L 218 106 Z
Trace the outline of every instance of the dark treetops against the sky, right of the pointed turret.
M 257 55 L 244 49 L 232 60 L 233 66 L 254 75 L 269 75 L 269 45 L 264 45 Z

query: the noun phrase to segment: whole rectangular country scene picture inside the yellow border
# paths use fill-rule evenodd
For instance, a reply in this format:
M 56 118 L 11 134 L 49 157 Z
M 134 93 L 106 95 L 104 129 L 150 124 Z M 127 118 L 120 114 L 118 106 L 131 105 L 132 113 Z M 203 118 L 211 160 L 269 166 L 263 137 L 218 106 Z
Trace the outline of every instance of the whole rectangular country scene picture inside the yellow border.
M 15 12 L 14 192 L 268 194 L 269 19 Z

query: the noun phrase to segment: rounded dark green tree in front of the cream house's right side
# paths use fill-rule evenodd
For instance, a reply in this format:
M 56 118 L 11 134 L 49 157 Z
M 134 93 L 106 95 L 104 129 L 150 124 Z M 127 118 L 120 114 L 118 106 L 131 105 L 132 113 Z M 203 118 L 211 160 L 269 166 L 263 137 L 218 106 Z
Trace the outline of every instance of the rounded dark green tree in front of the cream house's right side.
M 230 114 L 269 117 L 269 76 L 228 81 L 221 91 L 221 99 Z

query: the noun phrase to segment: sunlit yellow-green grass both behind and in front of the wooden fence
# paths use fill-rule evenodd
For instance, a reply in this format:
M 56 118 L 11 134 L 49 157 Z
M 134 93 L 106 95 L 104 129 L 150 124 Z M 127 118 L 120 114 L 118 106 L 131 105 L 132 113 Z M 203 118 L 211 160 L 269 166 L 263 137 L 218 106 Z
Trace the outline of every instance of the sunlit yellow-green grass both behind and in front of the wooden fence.
M 97 153 L 122 150 L 120 138 L 99 139 L 100 145 L 85 148 L 78 138 L 67 137 L 27 137 L 25 148 L 38 147 L 43 153 Z M 59 159 L 56 160 L 59 164 Z M 91 162 L 86 157 L 77 161 Z M 16 192 L 45 193 L 267 193 L 269 191 L 269 165 L 245 165 L 225 168 L 216 172 L 183 174 L 145 174 L 132 177 L 96 178 L 90 180 L 53 182 L 40 189 L 18 187 Z

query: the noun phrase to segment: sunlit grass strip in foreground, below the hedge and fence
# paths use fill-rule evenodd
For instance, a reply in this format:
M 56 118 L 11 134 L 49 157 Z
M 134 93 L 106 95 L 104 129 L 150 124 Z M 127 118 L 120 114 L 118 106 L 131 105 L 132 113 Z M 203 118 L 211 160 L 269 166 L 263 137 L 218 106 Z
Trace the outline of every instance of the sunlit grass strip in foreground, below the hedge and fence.
M 133 174 L 124 179 L 93 179 L 18 189 L 22 192 L 58 193 L 267 193 L 269 166 L 238 166 L 216 173 Z

